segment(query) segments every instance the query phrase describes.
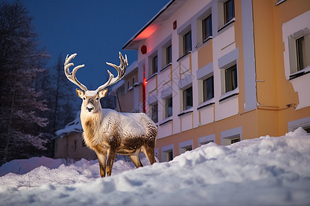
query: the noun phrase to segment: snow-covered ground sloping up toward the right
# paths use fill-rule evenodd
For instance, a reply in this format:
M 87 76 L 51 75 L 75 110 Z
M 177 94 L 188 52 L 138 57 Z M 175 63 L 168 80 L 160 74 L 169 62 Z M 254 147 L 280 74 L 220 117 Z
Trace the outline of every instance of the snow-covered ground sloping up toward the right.
M 97 161 L 45 157 L 11 161 L 0 174 L 0 205 L 310 205 L 310 135 L 210 143 L 139 169 L 119 160 L 104 179 Z

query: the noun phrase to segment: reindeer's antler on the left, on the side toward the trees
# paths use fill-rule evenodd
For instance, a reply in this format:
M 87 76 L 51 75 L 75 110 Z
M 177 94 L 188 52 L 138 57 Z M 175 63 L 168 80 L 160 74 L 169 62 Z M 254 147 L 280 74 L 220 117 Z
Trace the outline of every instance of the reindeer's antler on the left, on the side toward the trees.
M 73 66 L 74 64 L 72 62 L 71 63 L 69 62 L 72 60 L 72 58 L 76 56 L 76 54 L 71 54 L 69 57 L 68 56 L 69 54 L 65 58 L 65 63 L 63 64 L 63 67 L 65 69 L 65 76 L 68 78 L 68 80 L 70 80 L 70 82 L 72 82 L 73 84 L 76 84 L 76 86 L 80 87 L 83 91 L 87 91 L 88 90 L 87 87 L 81 84 L 81 82 L 79 82 L 75 76 L 76 71 L 78 71 L 81 67 L 84 67 L 85 65 L 76 66 L 74 67 L 72 72 L 70 72 L 69 67 Z

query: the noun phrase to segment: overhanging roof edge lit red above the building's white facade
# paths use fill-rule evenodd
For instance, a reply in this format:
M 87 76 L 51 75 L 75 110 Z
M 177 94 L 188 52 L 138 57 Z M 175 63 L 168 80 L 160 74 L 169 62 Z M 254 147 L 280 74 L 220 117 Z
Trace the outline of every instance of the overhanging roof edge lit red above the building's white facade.
M 147 22 L 141 30 L 139 30 L 127 43 L 123 49 L 137 50 L 141 41 L 152 35 L 161 25 L 165 23 L 187 0 L 171 0 L 169 1 L 149 22 Z

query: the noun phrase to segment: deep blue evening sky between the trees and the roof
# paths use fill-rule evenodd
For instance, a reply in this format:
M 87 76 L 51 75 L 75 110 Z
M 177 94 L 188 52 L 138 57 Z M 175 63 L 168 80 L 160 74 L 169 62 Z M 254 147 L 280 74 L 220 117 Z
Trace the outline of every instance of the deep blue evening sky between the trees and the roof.
M 76 77 L 87 89 L 94 90 L 107 80 L 107 69 L 114 73 L 105 62 L 119 65 L 118 51 L 127 54 L 129 64 L 137 59 L 136 51 L 122 50 L 123 45 L 169 0 L 21 2 L 34 17 L 32 25 L 39 34 L 40 47 L 51 55 L 48 67 L 56 65 L 59 54 L 65 58 L 77 53 L 74 65 L 85 67 Z

